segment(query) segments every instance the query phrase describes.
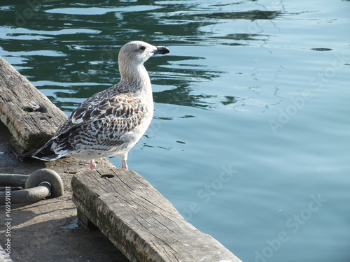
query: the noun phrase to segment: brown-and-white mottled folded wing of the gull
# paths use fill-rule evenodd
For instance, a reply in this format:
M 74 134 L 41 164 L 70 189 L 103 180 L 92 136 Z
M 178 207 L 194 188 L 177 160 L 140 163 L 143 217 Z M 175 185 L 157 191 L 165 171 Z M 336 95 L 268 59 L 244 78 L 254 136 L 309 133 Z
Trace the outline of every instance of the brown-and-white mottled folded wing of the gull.
M 33 157 L 54 160 L 85 150 L 108 150 L 123 144 L 123 134 L 139 126 L 145 115 L 141 99 L 130 93 L 101 98 L 99 94 L 82 103 Z

